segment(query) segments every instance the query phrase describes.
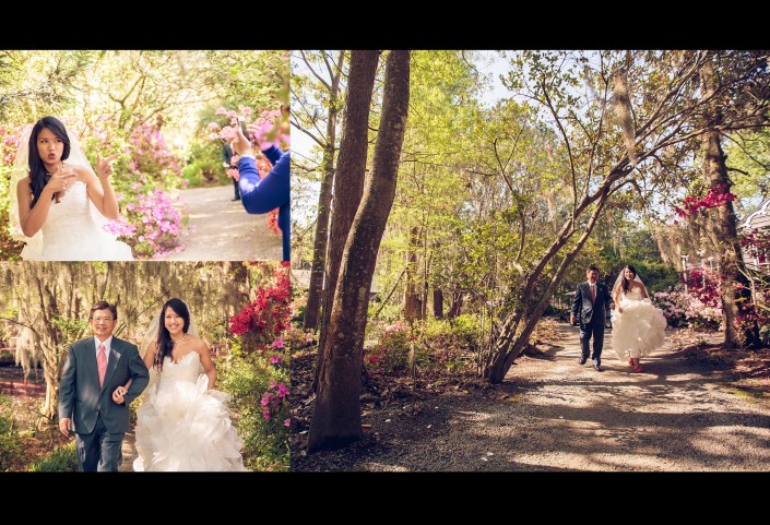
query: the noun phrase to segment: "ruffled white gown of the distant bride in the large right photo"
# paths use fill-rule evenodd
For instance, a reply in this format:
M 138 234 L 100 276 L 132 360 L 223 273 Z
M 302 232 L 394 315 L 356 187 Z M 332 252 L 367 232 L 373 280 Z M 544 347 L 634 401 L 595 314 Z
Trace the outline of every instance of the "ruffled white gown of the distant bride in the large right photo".
M 619 313 L 618 306 L 623 308 Z M 613 310 L 612 346 L 618 359 L 647 356 L 665 342 L 666 318 L 663 311 L 641 298 L 639 288 L 620 293 L 620 300 Z

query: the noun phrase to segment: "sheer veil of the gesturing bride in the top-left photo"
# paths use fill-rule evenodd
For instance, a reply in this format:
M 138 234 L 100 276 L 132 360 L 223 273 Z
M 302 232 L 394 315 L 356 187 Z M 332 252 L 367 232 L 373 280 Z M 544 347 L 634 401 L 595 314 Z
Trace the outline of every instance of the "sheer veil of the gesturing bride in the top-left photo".
M 16 199 L 16 186 L 19 186 L 19 181 L 29 175 L 29 134 L 32 133 L 33 127 L 33 124 L 29 124 L 26 131 L 24 131 L 24 133 L 22 134 L 22 139 L 19 143 L 19 150 L 16 151 L 16 157 L 13 159 L 13 167 L 11 168 L 11 181 L 9 186 L 8 195 L 8 223 L 9 234 L 14 240 L 26 242 L 27 248 L 39 249 L 43 242 L 40 231 L 38 230 L 32 237 L 25 236 L 22 231 L 22 225 L 19 222 L 19 199 Z M 96 176 L 96 172 L 94 171 L 94 168 L 91 167 L 91 163 L 83 153 L 83 148 L 81 147 L 80 141 L 78 140 L 75 134 L 71 131 L 68 131 L 67 135 L 70 139 L 70 155 L 67 157 L 64 163 L 83 167 L 91 171 L 94 176 Z M 109 224 L 109 219 L 107 219 L 104 215 L 99 213 L 98 208 L 96 207 L 96 205 L 94 205 L 91 199 L 88 199 L 88 208 L 91 210 L 91 216 L 94 218 L 94 222 L 100 228 L 104 228 L 104 226 Z M 106 230 L 105 234 L 107 234 Z M 35 250 L 35 252 L 37 253 L 39 251 Z

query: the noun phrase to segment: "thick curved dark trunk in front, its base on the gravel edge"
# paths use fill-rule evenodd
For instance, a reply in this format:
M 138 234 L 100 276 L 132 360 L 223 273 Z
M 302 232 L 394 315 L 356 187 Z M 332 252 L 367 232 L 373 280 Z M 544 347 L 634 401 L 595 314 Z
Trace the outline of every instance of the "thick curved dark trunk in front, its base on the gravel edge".
M 369 289 L 399 172 L 410 95 L 410 51 L 390 51 L 386 62 L 382 118 L 372 174 L 345 244 L 340 281 L 322 348 L 308 452 L 334 449 L 362 437 L 359 394 Z

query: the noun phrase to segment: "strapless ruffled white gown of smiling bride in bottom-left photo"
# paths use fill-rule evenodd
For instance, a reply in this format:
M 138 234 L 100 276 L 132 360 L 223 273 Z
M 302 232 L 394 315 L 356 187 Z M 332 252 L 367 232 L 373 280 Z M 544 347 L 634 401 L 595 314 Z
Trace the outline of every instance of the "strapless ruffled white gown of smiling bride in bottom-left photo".
M 159 380 L 137 410 L 134 470 L 246 470 L 244 440 L 227 410 L 229 395 L 210 390 L 197 351 L 174 362 L 166 357 Z

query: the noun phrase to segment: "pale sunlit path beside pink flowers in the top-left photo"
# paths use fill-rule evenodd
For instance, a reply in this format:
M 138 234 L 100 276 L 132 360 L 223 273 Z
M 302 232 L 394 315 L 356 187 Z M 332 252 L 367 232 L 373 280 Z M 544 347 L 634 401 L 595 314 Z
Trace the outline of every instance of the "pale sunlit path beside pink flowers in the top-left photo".
M 185 250 L 163 261 L 280 261 L 281 236 L 265 215 L 249 215 L 233 199 L 233 184 L 181 192 L 190 211 Z

